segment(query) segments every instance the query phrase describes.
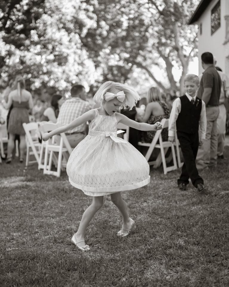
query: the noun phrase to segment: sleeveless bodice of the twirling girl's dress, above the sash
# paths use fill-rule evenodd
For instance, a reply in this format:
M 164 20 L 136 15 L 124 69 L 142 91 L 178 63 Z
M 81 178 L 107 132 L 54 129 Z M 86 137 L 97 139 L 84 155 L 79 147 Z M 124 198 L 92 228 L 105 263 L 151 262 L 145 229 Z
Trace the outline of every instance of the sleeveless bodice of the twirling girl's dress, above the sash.
M 89 131 L 117 132 L 117 120 L 115 114 L 112 116 L 104 116 L 99 114 L 98 109 L 95 109 L 95 117 L 89 123 Z

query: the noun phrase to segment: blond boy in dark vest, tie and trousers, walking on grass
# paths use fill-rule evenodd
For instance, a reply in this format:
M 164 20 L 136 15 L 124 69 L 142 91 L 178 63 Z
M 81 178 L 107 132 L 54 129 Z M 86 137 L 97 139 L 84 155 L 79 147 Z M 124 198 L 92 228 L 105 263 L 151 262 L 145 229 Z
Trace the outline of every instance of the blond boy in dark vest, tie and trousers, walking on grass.
M 194 74 L 188 74 L 184 79 L 185 95 L 174 100 L 168 126 L 168 141 L 174 141 L 177 128 L 177 138 L 180 142 L 184 157 L 184 164 L 180 178 L 177 180 L 178 188 L 186 190 L 189 178 L 194 187 L 200 193 L 205 193 L 204 181 L 196 168 L 196 155 L 199 145 L 206 134 L 206 110 L 205 103 L 196 97 L 199 88 L 199 78 Z M 199 140 L 200 131 L 200 140 Z

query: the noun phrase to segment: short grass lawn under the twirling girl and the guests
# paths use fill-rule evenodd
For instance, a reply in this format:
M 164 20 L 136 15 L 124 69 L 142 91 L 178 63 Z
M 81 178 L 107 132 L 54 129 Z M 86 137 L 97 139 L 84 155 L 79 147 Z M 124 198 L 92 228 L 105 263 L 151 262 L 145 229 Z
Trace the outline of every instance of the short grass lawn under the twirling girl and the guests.
M 228 160 L 201 172 L 209 195 L 191 184 L 179 191 L 180 170 L 151 168 L 148 186 L 123 192 L 136 221 L 126 238 L 116 236 L 121 216 L 105 196 L 86 233 L 88 253 L 70 240 L 91 198 L 66 172 L 56 178 L 17 161 L 0 164 L 1 287 L 229 286 Z

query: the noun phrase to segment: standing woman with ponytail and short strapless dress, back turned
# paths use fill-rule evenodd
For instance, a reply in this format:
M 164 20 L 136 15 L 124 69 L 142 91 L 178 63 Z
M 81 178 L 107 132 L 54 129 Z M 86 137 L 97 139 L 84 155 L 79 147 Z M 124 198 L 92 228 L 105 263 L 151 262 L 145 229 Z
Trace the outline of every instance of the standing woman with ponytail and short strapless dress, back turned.
M 8 102 L 3 103 L 5 109 L 10 109 L 13 105 L 13 109 L 10 113 L 8 123 L 9 140 L 7 145 L 7 158 L 6 163 L 12 161 L 12 152 L 14 149 L 15 135 L 20 136 L 20 162 L 23 162 L 24 151 L 26 147 L 25 143 L 25 131 L 22 123 L 29 123 L 28 109 L 33 108 L 33 98 L 29 91 L 25 89 L 25 81 L 23 77 L 17 76 L 15 79 L 16 89 L 11 91 L 8 97 Z

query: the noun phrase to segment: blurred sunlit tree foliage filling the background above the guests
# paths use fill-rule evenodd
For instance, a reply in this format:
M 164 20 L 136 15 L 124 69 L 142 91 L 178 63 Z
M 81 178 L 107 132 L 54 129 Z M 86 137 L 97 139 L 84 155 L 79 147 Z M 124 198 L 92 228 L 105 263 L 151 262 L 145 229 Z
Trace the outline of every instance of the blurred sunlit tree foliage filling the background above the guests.
M 1 0 L 0 88 L 17 74 L 41 97 L 106 80 L 181 90 L 196 56 L 196 0 Z M 179 79 L 174 77 L 174 69 Z

